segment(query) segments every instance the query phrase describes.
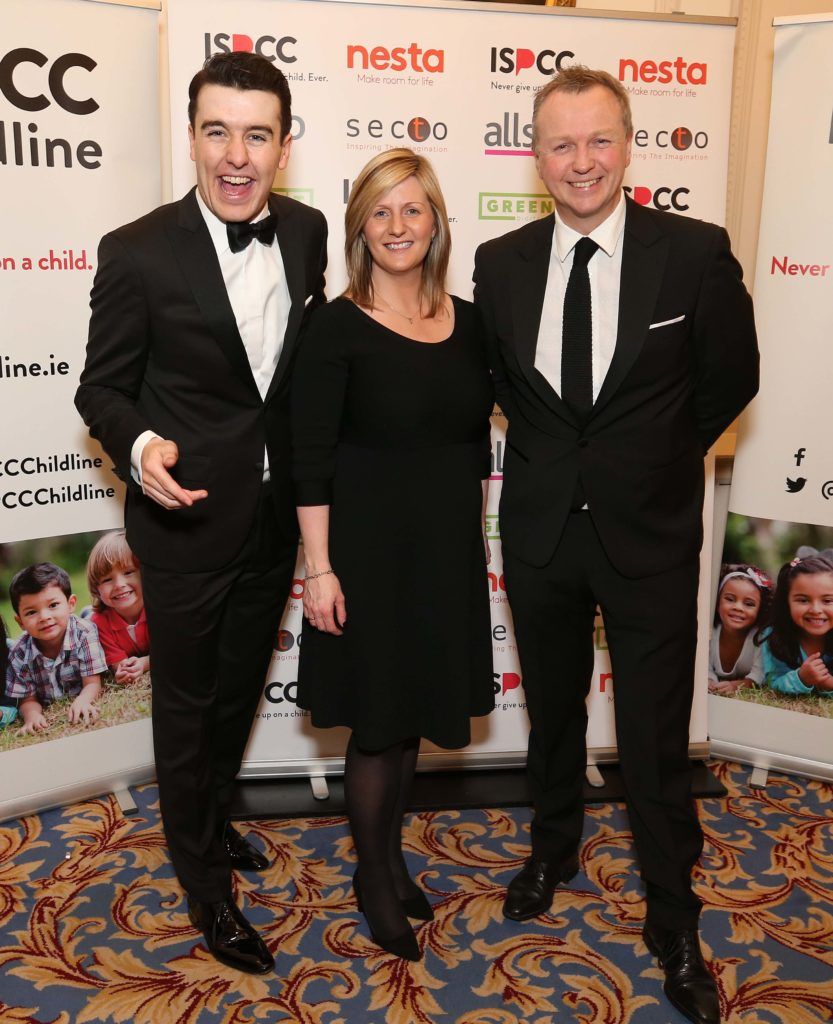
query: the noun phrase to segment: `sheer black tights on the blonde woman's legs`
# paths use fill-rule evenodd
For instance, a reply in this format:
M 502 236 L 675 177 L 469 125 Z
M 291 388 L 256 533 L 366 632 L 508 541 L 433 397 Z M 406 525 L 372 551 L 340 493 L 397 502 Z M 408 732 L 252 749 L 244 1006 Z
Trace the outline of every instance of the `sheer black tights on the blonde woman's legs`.
M 371 928 L 386 937 L 409 927 L 400 900 L 417 891 L 402 853 L 402 819 L 418 753 L 418 737 L 364 751 L 351 735 L 344 759 L 344 799 L 363 908 Z

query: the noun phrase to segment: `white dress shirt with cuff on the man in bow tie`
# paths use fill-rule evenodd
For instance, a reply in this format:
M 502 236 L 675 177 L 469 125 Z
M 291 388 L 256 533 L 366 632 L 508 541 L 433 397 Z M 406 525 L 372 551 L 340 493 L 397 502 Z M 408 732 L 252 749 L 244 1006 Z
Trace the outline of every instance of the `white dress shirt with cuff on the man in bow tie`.
M 228 302 L 252 368 L 257 390 L 264 398 L 284 345 L 290 297 L 281 247 L 276 237 L 270 246 L 254 239 L 242 252 L 228 248 L 225 222 L 215 216 L 197 193 L 197 205 L 208 227 L 225 282 Z M 255 221 L 268 215 L 268 205 Z M 141 483 L 141 453 L 159 434 L 145 430 L 133 442 L 130 465 L 133 478 Z M 263 456 L 263 479 L 269 478 L 268 453 Z

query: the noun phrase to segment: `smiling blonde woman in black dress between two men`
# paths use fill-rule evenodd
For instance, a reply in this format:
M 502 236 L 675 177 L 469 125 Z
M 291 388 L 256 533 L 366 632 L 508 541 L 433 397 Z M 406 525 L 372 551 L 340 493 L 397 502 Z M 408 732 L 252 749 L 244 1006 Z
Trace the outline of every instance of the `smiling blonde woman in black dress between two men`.
M 298 703 L 352 730 L 344 792 L 374 941 L 421 955 L 432 916 L 402 854 L 420 737 L 469 742 L 494 707 L 486 548 L 492 384 L 428 162 L 375 157 L 345 215 L 348 286 L 316 310 L 293 376 L 304 545 Z

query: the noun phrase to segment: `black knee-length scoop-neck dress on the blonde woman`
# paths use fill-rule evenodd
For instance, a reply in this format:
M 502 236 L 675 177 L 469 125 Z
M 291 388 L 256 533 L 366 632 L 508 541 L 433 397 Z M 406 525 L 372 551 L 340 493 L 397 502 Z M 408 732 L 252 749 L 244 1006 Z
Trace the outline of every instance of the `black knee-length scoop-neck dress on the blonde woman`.
M 423 343 L 345 298 L 314 313 L 293 374 L 299 505 L 330 506 L 343 636 L 304 621 L 298 705 L 380 750 L 464 746 L 494 707 L 481 532 L 493 391 L 473 306 Z

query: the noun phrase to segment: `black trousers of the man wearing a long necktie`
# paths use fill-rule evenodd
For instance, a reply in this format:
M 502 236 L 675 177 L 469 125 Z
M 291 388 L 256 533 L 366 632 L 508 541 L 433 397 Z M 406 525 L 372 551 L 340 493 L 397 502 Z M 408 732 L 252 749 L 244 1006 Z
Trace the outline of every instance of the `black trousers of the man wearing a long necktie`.
M 626 579 L 606 555 L 591 514 L 582 511 L 569 517 L 548 565 L 535 568 L 506 551 L 504 574 L 531 722 L 534 852 L 561 859 L 581 840 L 585 701 L 598 605 L 648 918 L 659 927 L 693 927 L 700 901 L 691 872 L 703 846 L 688 754 L 699 563 Z

